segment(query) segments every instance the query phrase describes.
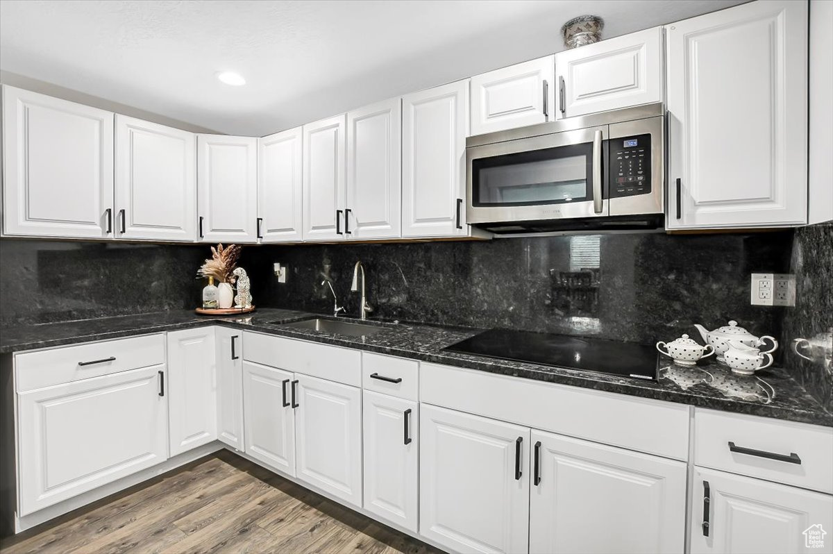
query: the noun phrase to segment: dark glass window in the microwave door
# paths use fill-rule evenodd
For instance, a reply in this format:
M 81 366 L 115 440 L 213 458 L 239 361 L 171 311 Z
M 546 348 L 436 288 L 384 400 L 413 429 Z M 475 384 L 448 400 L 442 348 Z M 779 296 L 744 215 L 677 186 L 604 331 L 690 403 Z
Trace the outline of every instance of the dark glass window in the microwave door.
M 475 160 L 474 205 L 534 206 L 591 200 L 591 158 L 583 152 L 563 155 L 566 148 L 576 146 L 583 145 Z M 529 159 L 533 156 L 536 159 Z

